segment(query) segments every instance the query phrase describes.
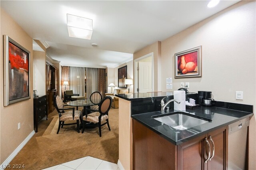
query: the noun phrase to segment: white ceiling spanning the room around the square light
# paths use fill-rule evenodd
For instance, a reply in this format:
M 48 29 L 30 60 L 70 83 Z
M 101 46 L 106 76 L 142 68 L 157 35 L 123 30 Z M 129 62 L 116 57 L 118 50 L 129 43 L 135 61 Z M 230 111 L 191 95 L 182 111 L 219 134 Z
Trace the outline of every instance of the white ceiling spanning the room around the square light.
M 132 54 L 216 14 L 238 1 L 0 1 L 3 8 L 35 40 L 45 41 L 47 54 L 62 65 L 116 67 Z M 91 40 L 70 38 L 66 14 L 93 20 Z M 98 47 L 92 47 L 92 43 Z

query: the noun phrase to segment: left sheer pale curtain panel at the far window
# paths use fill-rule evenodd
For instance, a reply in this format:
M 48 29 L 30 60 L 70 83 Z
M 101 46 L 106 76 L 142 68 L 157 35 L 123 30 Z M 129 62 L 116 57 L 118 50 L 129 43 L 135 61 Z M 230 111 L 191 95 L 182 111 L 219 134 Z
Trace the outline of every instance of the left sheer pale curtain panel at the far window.
M 73 90 L 74 94 L 84 96 L 84 67 L 70 67 L 69 71 L 69 87 Z

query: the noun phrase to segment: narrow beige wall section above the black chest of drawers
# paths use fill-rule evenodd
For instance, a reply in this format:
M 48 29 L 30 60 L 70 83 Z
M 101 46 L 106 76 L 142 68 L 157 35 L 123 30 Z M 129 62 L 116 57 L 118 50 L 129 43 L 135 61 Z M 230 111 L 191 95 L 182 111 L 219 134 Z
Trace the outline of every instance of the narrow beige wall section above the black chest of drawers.
M 37 90 L 39 95 L 46 95 L 46 85 L 44 83 L 46 80 L 44 51 L 33 51 L 33 72 L 33 90 Z

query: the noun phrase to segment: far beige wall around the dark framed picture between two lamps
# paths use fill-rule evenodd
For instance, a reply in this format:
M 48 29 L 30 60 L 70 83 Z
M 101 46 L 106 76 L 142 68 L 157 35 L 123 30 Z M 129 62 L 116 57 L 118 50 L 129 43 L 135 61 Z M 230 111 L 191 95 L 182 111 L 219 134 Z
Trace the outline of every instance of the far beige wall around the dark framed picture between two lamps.
M 127 65 L 127 79 L 132 79 L 133 81 L 133 61 L 128 61 L 127 63 L 119 65 L 114 69 L 114 74 L 115 74 L 114 85 L 116 86 L 115 87 L 116 89 L 118 89 L 118 69 L 121 67 L 124 67 L 125 65 Z M 133 87 L 134 87 L 133 85 L 130 85 L 130 93 L 133 93 Z

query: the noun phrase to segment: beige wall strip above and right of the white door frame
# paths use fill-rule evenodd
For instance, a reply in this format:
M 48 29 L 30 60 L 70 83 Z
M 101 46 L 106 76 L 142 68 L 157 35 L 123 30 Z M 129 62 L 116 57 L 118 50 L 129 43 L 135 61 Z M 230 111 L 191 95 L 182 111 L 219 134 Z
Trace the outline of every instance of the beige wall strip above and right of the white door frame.
M 140 51 L 137 51 L 133 54 L 133 59 L 138 59 L 140 57 L 143 57 L 144 55 L 147 55 L 149 53 L 153 52 L 154 55 L 154 89 L 153 91 L 160 91 L 161 87 L 161 81 L 158 81 L 161 75 L 161 42 L 155 42 L 151 45 L 148 45 L 147 47 L 141 49 Z M 134 63 L 133 63 L 134 64 Z M 133 66 L 134 68 L 134 66 Z M 133 73 L 134 74 L 134 73 Z

